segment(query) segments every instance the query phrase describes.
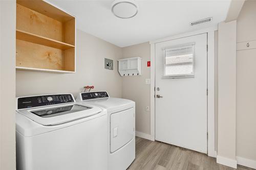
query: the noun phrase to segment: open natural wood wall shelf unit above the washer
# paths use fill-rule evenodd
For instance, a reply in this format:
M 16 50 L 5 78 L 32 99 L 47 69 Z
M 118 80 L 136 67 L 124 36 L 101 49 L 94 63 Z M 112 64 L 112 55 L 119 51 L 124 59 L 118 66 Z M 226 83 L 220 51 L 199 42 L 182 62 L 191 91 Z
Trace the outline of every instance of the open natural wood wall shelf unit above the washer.
M 16 2 L 16 69 L 75 72 L 75 17 L 42 0 Z

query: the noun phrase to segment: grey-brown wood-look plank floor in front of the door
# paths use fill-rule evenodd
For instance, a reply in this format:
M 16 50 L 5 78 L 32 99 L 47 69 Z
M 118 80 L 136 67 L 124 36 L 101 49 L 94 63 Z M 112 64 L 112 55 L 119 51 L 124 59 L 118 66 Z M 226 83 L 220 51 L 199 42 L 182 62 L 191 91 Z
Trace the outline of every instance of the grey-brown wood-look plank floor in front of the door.
M 174 145 L 136 137 L 136 158 L 129 170 L 233 170 L 216 163 L 216 158 L 175 147 Z M 239 170 L 252 169 L 238 166 Z

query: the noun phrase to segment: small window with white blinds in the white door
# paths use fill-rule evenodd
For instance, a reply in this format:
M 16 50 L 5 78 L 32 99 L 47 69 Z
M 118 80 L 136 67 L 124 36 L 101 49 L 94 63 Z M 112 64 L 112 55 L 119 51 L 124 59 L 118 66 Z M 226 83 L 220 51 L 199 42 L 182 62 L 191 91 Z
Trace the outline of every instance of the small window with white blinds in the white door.
M 164 50 L 164 77 L 194 77 L 195 44 Z

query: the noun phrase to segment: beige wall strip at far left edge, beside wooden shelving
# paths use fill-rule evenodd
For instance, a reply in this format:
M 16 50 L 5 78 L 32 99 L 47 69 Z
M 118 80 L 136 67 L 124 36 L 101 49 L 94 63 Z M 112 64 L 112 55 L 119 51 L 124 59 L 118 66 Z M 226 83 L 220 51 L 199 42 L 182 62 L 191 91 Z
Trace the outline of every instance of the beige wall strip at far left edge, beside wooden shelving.
M 16 1 L 0 1 L 0 169 L 15 169 Z

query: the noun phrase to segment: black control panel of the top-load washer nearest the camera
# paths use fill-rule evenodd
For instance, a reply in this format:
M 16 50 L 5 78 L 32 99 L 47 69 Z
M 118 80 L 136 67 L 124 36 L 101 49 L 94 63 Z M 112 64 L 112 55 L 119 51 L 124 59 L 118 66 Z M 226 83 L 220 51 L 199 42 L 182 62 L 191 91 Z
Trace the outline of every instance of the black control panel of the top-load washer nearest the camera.
M 37 95 L 18 98 L 18 109 L 74 102 L 71 94 Z

